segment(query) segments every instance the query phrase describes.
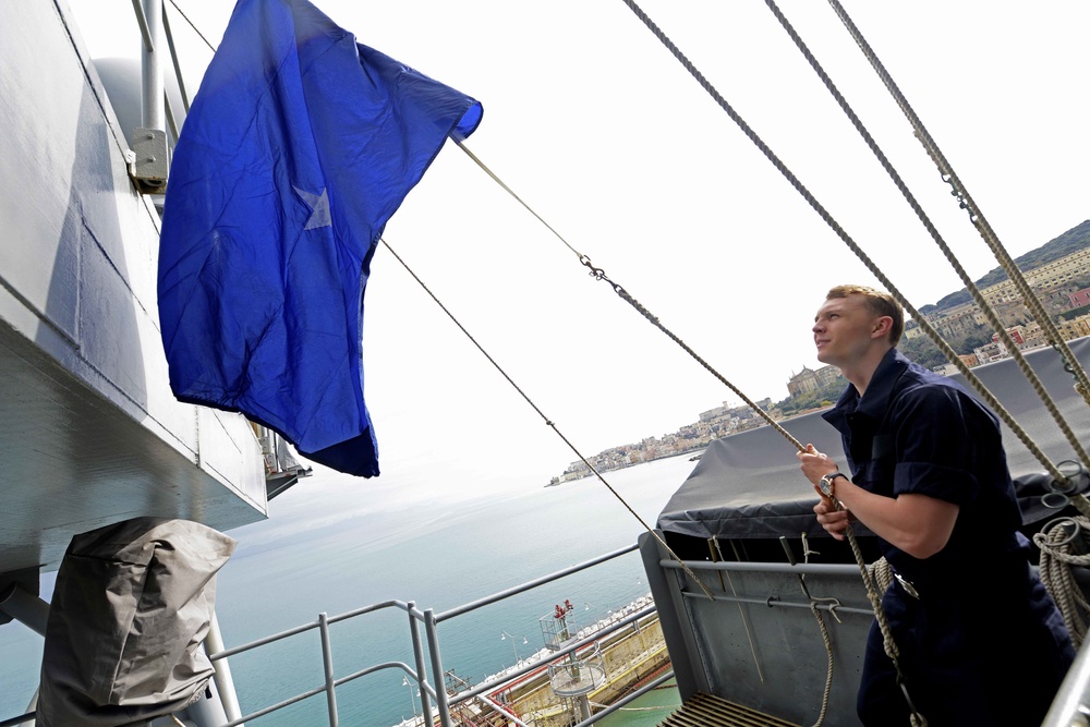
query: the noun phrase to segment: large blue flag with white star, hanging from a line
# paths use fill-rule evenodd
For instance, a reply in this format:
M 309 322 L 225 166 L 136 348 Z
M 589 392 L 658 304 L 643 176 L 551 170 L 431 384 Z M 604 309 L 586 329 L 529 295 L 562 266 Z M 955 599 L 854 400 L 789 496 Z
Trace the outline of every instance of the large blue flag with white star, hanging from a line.
M 378 238 L 481 105 L 305 0 L 239 0 L 174 149 L 159 323 L 174 396 L 378 474 L 363 294 Z

